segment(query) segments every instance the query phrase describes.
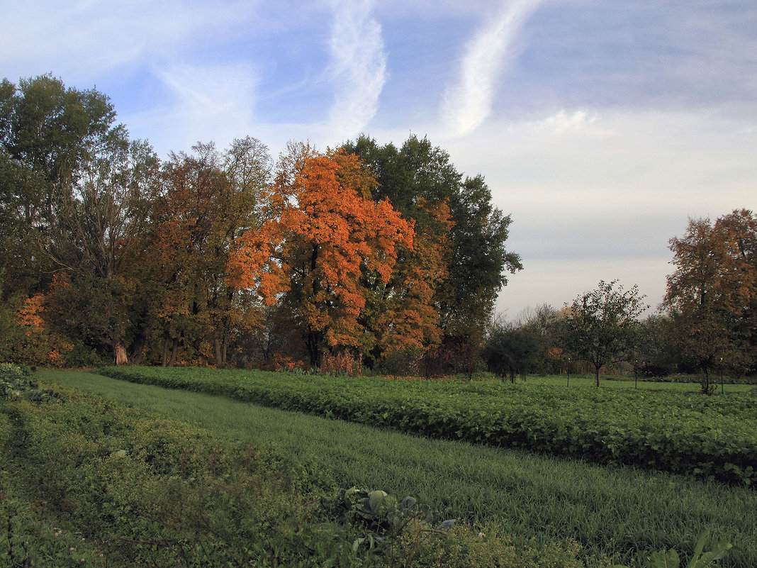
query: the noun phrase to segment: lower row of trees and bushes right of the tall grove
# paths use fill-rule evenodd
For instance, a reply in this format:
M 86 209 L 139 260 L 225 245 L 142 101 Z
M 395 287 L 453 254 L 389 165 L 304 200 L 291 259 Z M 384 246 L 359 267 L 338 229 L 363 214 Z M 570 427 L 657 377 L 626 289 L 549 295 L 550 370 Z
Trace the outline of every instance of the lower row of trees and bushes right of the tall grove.
M 489 368 L 512 380 L 523 373 L 619 368 L 638 376 L 757 373 L 757 217 L 737 209 L 690 219 L 670 239 L 674 271 L 662 304 L 650 306 L 637 286 L 601 281 L 562 309 L 543 304 L 515 321 L 495 321 L 483 351 Z

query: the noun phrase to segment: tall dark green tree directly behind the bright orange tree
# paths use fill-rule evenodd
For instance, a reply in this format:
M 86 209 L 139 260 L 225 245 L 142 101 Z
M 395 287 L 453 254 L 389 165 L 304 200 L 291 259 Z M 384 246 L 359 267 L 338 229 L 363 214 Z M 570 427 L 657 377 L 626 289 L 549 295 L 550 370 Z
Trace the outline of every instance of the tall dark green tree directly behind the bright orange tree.
M 449 154 L 428 139 L 410 136 L 397 148 L 360 136 L 343 148 L 375 173 L 374 200 L 388 198 L 425 239 L 424 246 L 400 254 L 388 289 L 407 287 L 407 279 L 400 279 L 412 270 L 425 274 L 423 302 L 436 314 L 440 333 L 426 334 L 423 346 L 441 341 L 442 351 L 472 357 L 472 364 L 506 272 L 522 268 L 505 246 L 511 218 L 491 204 L 483 177 L 464 178 Z M 440 215 L 441 208 L 449 214 Z M 438 253 L 427 254 L 431 250 Z

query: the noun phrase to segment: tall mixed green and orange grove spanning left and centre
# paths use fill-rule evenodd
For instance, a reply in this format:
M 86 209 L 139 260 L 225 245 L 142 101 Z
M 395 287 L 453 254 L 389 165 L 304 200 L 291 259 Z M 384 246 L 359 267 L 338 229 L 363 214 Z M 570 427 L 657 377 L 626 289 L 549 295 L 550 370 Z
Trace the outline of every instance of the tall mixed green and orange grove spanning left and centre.
M 2 360 L 450 369 L 522 268 L 510 223 L 425 138 L 161 160 L 96 89 L 0 83 Z

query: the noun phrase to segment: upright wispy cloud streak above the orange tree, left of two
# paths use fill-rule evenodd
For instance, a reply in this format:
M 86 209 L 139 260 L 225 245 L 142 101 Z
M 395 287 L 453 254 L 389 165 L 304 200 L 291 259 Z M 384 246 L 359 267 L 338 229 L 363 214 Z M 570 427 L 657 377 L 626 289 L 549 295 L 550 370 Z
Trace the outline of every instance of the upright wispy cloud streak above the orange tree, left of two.
M 373 0 L 335 0 L 329 40 L 336 100 L 329 112 L 337 136 L 353 136 L 375 116 L 387 68 Z

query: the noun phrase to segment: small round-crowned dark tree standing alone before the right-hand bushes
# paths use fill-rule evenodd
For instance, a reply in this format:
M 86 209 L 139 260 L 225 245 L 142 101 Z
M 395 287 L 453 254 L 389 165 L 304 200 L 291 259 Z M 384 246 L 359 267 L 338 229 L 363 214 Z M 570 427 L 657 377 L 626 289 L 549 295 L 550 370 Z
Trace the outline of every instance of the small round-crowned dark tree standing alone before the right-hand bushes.
M 638 287 L 623 290 L 617 280 L 600 280 L 596 289 L 565 304 L 568 315 L 562 329 L 562 342 L 569 354 L 593 365 L 600 386 L 600 369 L 628 360 L 638 341 L 637 319 L 647 307 Z

